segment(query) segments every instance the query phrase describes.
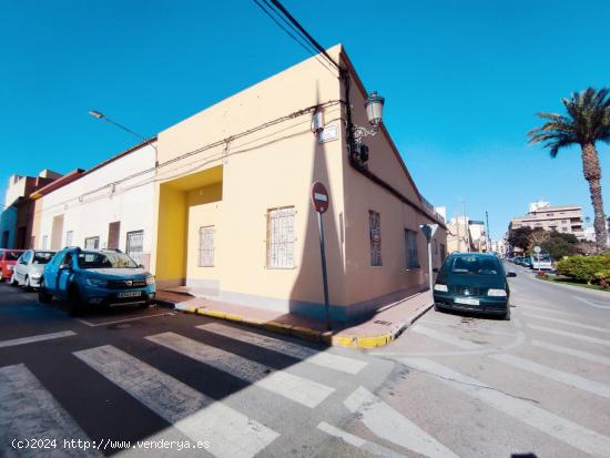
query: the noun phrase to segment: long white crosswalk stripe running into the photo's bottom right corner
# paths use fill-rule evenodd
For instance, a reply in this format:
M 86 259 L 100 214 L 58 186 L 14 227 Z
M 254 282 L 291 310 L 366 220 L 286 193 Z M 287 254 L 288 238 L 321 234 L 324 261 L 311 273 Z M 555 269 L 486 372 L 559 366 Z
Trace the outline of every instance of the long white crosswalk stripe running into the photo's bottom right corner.
M 591 456 L 604 458 L 610 450 L 610 438 L 581 425 L 555 415 L 523 400 L 495 390 L 479 380 L 465 376 L 426 358 L 401 358 L 405 365 L 436 376 L 440 383 L 451 386 L 491 407 L 555 437 Z

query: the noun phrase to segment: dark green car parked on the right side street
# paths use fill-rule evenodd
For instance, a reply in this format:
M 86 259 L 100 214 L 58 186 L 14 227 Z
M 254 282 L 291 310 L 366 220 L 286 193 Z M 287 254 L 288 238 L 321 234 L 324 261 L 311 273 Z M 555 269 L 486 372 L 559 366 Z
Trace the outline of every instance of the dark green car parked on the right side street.
M 485 253 L 451 254 L 434 286 L 435 309 L 478 312 L 510 319 L 510 289 L 497 256 Z

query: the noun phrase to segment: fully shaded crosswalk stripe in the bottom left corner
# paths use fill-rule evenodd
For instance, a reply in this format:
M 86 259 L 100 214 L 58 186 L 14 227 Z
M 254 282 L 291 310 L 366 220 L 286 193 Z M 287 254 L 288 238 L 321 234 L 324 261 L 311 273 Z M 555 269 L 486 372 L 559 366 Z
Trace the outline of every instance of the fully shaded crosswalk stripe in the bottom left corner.
M 62 456 L 101 456 L 93 449 L 63 448 L 64 438 L 90 440 L 26 365 L 0 367 L 0 455 L 49 456 L 48 449 L 9 449 L 13 439 L 49 439 L 58 441 Z

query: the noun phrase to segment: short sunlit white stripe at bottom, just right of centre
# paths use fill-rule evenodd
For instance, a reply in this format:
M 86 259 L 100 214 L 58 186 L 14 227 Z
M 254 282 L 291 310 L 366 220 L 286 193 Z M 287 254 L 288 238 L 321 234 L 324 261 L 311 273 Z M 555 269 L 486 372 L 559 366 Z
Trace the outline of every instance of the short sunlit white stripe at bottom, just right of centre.
M 457 458 L 451 450 L 362 386 L 343 404 L 385 440 L 429 458 Z

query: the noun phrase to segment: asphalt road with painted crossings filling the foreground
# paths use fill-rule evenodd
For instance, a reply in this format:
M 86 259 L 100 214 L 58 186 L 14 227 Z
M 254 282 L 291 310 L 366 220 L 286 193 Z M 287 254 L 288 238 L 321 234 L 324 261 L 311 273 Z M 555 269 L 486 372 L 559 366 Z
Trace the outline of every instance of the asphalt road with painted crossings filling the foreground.
M 430 311 L 369 352 L 2 284 L 0 456 L 609 457 L 610 294 L 515 269 L 510 322 Z

